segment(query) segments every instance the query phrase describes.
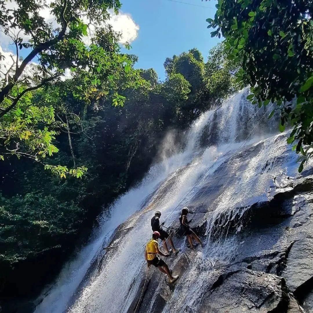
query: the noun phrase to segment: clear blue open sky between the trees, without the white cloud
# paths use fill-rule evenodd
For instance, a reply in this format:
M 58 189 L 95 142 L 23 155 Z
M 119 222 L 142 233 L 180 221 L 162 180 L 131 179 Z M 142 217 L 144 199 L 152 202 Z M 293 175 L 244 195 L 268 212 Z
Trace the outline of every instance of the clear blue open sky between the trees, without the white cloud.
M 179 1 L 179 0 L 177 0 Z M 163 63 L 167 57 L 198 48 L 204 59 L 221 39 L 211 38 L 207 18 L 213 18 L 216 1 L 181 0 L 206 8 L 168 0 L 122 0 L 122 13 L 131 14 L 139 26 L 131 43 L 131 54 L 138 56 L 137 68 L 154 68 L 165 78 Z

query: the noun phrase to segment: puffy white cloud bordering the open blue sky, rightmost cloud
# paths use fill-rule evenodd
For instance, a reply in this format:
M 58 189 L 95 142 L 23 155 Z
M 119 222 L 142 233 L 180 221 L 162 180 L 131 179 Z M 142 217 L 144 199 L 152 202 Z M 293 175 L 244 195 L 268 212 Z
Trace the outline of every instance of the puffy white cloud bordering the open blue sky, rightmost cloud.
M 139 26 L 134 22 L 130 14 L 112 14 L 108 23 L 112 25 L 115 32 L 122 34 L 120 40 L 122 44 L 125 44 L 126 42 L 130 43 L 138 36 Z

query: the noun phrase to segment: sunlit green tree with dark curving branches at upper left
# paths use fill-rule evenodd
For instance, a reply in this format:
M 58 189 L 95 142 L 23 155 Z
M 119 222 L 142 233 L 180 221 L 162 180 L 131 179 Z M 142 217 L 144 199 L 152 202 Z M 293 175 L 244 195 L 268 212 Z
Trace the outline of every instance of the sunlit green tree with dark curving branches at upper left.
M 123 106 L 123 90 L 136 89 L 145 81 L 133 69 L 134 57 L 120 53 L 120 34 L 103 24 L 109 18 L 108 9 L 117 12 L 120 8 L 118 0 L 51 2 L 48 8 L 56 26 L 39 14 L 46 4 L 16 3 L 13 10 L 7 1 L 0 2 L 0 28 L 16 46 L 13 65 L 1 68 L 0 158 L 26 156 L 42 162 L 59 151 L 54 140 L 62 129 L 68 131 L 71 146 L 69 125 L 74 121 L 81 125 L 86 106 L 96 110 L 104 98 Z M 94 33 L 88 30 L 86 20 L 96 26 Z M 22 33 L 29 38 L 26 42 Z M 88 46 L 84 41 L 87 35 L 91 40 Z M 20 50 L 27 53 L 23 60 L 19 59 Z M 31 63 L 35 56 L 37 63 Z M 29 73 L 30 64 L 33 71 Z M 70 70 L 67 80 L 63 76 L 66 69 Z M 80 108 L 69 105 L 69 95 L 82 102 Z M 81 177 L 86 171 L 84 166 L 69 170 L 64 165 L 46 164 L 45 168 L 61 177 Z

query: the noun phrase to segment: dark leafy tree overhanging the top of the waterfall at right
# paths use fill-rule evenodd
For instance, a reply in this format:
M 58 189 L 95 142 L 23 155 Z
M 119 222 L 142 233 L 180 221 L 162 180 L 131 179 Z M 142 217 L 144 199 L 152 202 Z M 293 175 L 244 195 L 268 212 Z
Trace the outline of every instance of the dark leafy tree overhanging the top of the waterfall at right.
M 226 38 L 228 58 L 242 67 L 238 81 L 251 85 L 254 103 L 277 104 L 280 130 L 290 121 L 288 142 L 298 141 L 296 151 L 307 159 L 313 144 L 313 2 L 219 0 L 216 6 L 208 28 L 216 28 L 213 37 Z M 295 107 L 289 103 L 294 98 Z

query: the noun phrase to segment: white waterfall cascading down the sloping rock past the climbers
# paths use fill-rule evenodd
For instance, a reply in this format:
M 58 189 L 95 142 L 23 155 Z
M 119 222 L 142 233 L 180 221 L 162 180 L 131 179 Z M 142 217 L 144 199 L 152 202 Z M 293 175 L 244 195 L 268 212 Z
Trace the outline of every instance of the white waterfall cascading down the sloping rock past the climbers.
M 240 232 L 241 217 L 249 205 L 268 196 L 274 177 L 282 172 L 292 176 L 297 167 L 285 135 L 273 135 L 277 126 L 274 119 L 267 119 L 270 105 L 261 109 L 251 105 L 246 100 L 248 92 L 242 90 L 200 116 L 187 133 L 184 150 L 152 166 L 137 187 L 121 196 L 109 213 L 105 211 L 90 243 L 64 267 L 35 312 L 127 312 L 142 287 L 137 278 L 145 275 L 143 253 L 153 212 L 161 210 L 167 226 L 177 225 L 186 205 L 208 212 L 202 215 L 207 221 L 207 245 L 180 277 L 179 288 L 163 311 L 180 312 L 186 307 L 197 311 L 214 267 L 238 253 L 238 239 L 227 236 L 230 225 Z M 165 140 L 163 148 L 167 145 L 172 141 Z M 288 164 L 292 166 L 287 173 Z M 106 257 L 103 247 L 122 223 L 127 231 L 114 239 L 112 245 L 117 248 Z M 175 259 L 171 262 L 175 264 Z

